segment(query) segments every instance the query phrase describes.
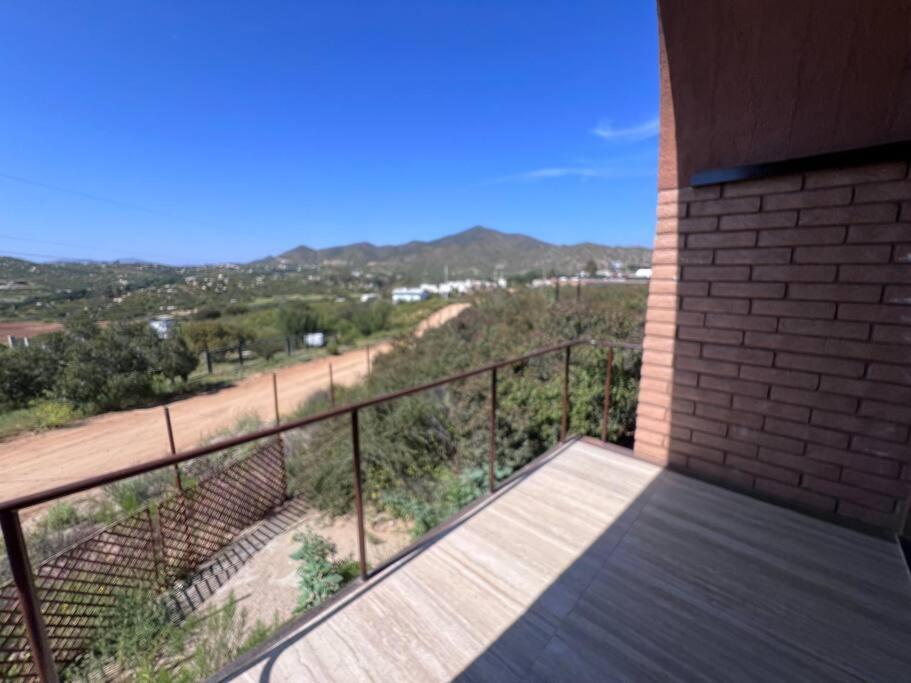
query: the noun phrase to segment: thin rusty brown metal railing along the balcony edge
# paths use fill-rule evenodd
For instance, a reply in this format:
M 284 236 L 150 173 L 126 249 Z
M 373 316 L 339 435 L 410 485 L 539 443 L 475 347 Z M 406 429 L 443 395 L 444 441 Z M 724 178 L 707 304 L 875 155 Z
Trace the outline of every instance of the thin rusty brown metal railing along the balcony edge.
M 354 503 L 355 503 L 355 512 L 357 516 L 357 543 L 358 543 L 358 564 L 360 569 L 360 576 L 362 580 L 369 579 L 375 573 L 382 571 L 384 568 L 389 566 L 390 563 L 395 561 L 398 557 L 401 557 L 404 553 L 407 553 L 409 550 L 412 550 L 415 546 L 412 544 L 408 548 L 405 548 L 400 553 L 397 553 L 393 558 L 387 559 L 385 562 L 371 568 L 368 568 L 367 564 L 367 552 L 365 547 L 365 520 L 364 520 L 364 494 L 363 494 L 363 473 L 362 473 L 362 464 L 361 464 L 361 444 L 360 444 L 360 424 L 359 424 L 359 414 L 362 410 L 376 406 L 382 403 L 389 401 L 394 401 L 405 396 L 411 396 L 418 394 L 429 389 L 436 387 L 441 387 L 453 382 L 458 382 L 460 380 L 465 380 L 471 377 L 478 377 L 481 375 L 489 374 L 490 376 L 490 401 L 489 401 L 489 442 L 488 442 L 488 455 L 487 455 L 487 488 L 488 495 L 492 494 L 497 489 L 497 481 L 495 474 L 495 465 L 497 457 L 497 371 L 502 368 L 507 368 L 533 358 L 539 358 L 541 356 L 547 356 L 550 354 L 560 353 L 563 354 L 563 372 L 562 372 L 562 397 L 561 397 L 561 419 L 560 419 L 560 428 L 559 428 L 559 440 L 564 441 L 569 432 L 569 422 L 570 422 L 570 363 L 572 357 L 572 349 L 579 346 L 594 346 L 599 348 L 605 348 L 607 350 L 607 371 L 605 373 L 605 382 L 604 382 L 604 405 L 602 412 L 602 425 L 601 425 L 601 438 L 602 441 L 607 440 L 608 435 L 608 416 L 610 410 L 610 396 L 611 396 L 611 366 L 613 364 L 613 356 L 615 350 L 619 349 L 631 349 L 631 350 L 641 350 L 641 345 L 639 344 L 630 344 L 625 342 L 613 341 L 613 340 L 591 340 L 591 339 L 580 339 L 576 341 L 563 342 L 561 344 L 556 344 L 546 348 L 538 349 L 530 353 L 524 354 L 522 356 L 510 358 L 507 360 L 497 361 L 489 363 L 487 365 L 460 372 L 457 374 L 449 375 L 441 379 L 436 379 L 424 384 L 419 384 L 407 389 L 401 389 L 398 391 L 393 391 L 386 393 L 374 398 L 365 399 L 355 403 L 351 403 L 344 406 L 333 407 L 330 410 L 311 415 L 309 417 L 304 417 L 301 419 L 296 419 L 293 421 L 279 423 L 276 420 L 276 425 L 272 427 L 267 427 L 254 431 L 248 434 L 241 436 L 231 437 L 223 439 L 206 446 L 199 448 L 189 449 L 183 452 L 175 452 L 173 447 L 173 440 L 171 440 L 171 453 L 164 457 L 158 458 L 156 460 L 133 465 L 130 467 L 125 467 L 113 472 L 100 474 L 94 477 L 89 477 L 82 479 L 80 481 L 72 482 L 69 484 L 64 484 L 62 486 L 57 486 L 54 488 L 49 488 L 44 491 L 37 493 L 32 493 L 17 498 L 13 498 L 7 501 L 0 503 L 0 526 L 3 530 L 3 538 L 6 543 L 6 553 L 9 560 L 10 572 L 13 577 L 13 586 L 15 587 L 15 596 L 18 602 L 19 617 L 21 619 L 21 625 L 25 631 L 25 637 L 28 641 L 28 652 L 30 653 L 31 659 L 31 669 L 34 672 L 34 675 L 42 681 L 57 681 L 58 673 L 56 664 L 54 661 L 54 651 L 51 646 L 50 639 L 48 637 L 48 625 L 46 624 L 45 614 L 42 610 L 42 600 L 46 598 L 47 591 L 45 593 L 45 598 L 41 598 L 38 595 L 38 589 L 36 588 L 36 575 L 33 572 L 31 562 L 28 557 L 28 551 L 26 548 L 25 539 L 22 532 L 22 525 L 19 516 L 19 511 L 28 508 L 34 505 L 40 505 L 42 503 L 48 503 L 50 501 L 56 500 L 58 498 L 63 498 L 65 496 L 70 496 L 73 494 L 81 493 L 92 488 L 99 486 L 104 486 L 108 484 L 113 484 L 130 477 L 137 475 L 146 474 L 161 468 L 165 467 L 174 467 L 176 479 L 178 482 L 178 490 L 180 498 L 175 498 L 175 503 L 171 503 L 172 506 L 176 505 L 179 507 L 179 501 L 184 501 L 183 504 L 186 504 L 186 496 L 182 487 L 180 485 L 180 469 L 179 466 L 182 463 L 188 463 L 190 461 L 196 460 L 203 456 L 211 455 L 220 451 L 225 451 L 227 449 L 235 448 L 238 446 L 243 446 L 245 444 L 251 444 L 255 441 L 265 439 L 268 437 L 274 437 L 290 430 L 299 429 L 302 427 L 307 427 L 309 425 L 315 425 L 317 423 L 330 420 L 332 418 L 341 417 L 344 415 L 350 416 L 351 421 L 351 439 L 352 439 L 352 468 L 353 468 L 353 481 L 354 481 Z M 170 432 L 170 430 L 169 430 Z M 166 506 L 165 506 L 166 507 Z M 173 516 L 173 515 L 172 515 Z M 164 518 L 162 518 L 164 519 Z M 170 519 L 170 518 L 169 518 Z M 149 522 L 149 528 L 152 530 L 150 532 L 151 537 L 158 537 L 159 542 L 161 541 L 162 529 L 164 527 L 161 524 L 162 520 L 159 520 L 158 525 L 153 525 Z M 179 522 L 179 520 L 177 520 Z M 170 521 L 169 525 L 174 526 L 175 523 Z M 155 526 L 158 529 L 155 529 Z M 170 529 L 168 526 L 168 529 Z M 173 530 L 172 530 L 173 531 Z M 154 540 L 154 539 L 153 539 Z M 154 545 L 153 540 L 149 540 L 149 544 Z M 217 544 L 216 544 L 217 545 Z M 211 550 L 216 549 L 216 545 L 213 545 Z M 163 553 L 161 549 L 155 551 L 158 553 Z M 165 555 L 162 554 L 162 558 L 165 558 Z M 196 557 L 195 559 L 203 559 L 201 556 Z M 43 566 L 43 565 L 42 565 Z M 183 569 L 186 569 L 186 566 L 182 566 Z M 40 578 L 40 577 L 39 577 Z M 3 626 L 0 624 L 0 626 Z M 25 662 L 23 662 L 24 664 Z

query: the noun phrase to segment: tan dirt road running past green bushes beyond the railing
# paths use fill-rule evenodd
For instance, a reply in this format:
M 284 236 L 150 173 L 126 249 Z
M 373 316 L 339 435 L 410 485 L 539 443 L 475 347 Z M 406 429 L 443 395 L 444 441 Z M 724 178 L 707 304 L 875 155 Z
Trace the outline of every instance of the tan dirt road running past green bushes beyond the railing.
M 437 311 L 421 322 L 416 334 L 452 319 L 467 305 L 451 304 Z M 371 356 L 388 349 L 388 343 L 372 346 Z M 283 414 L 328 389 L 330 362 L 336 384 L 350 385 L 364 376 L 367 354 L 359 349 L 276 370 Z M 254 375 L 217 393 L 175 401 L 169 408 L 178 450 L 191 448 L 233 426 L 243 415 L 256 413 L 264 421 L 273 420 L 272 375 Z M 106 413 L 77 426 L 26 434 L 0 443 L 0 500 L 152 460 L 167 452 L 160 407 Z

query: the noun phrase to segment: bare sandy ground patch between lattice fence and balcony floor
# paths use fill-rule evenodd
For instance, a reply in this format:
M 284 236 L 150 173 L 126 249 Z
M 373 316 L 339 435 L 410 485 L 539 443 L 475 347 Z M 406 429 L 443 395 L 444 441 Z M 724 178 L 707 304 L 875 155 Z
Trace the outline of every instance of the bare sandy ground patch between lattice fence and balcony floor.
M 233 595 L 238 606 L 246 611 L 248 629 L 257 621 L 271 625 L 290 619 L 297 606 L 297 568 L 301 565 L 300 560 L 291 559 L 291 553 L 300 546 L 294 541 L 294 535 L 307 530 L 335 544 L 336 553 L 331 559 L 357 558 L 356 517 L 333 518 L 311 510 L 248 559 L 205 601 L 205 607 L 217 608 Z M 368 519 L 366 537 L 367 561 L 371 565 L 392 557 L 411 543 L 407 525 L 386 516 Z

